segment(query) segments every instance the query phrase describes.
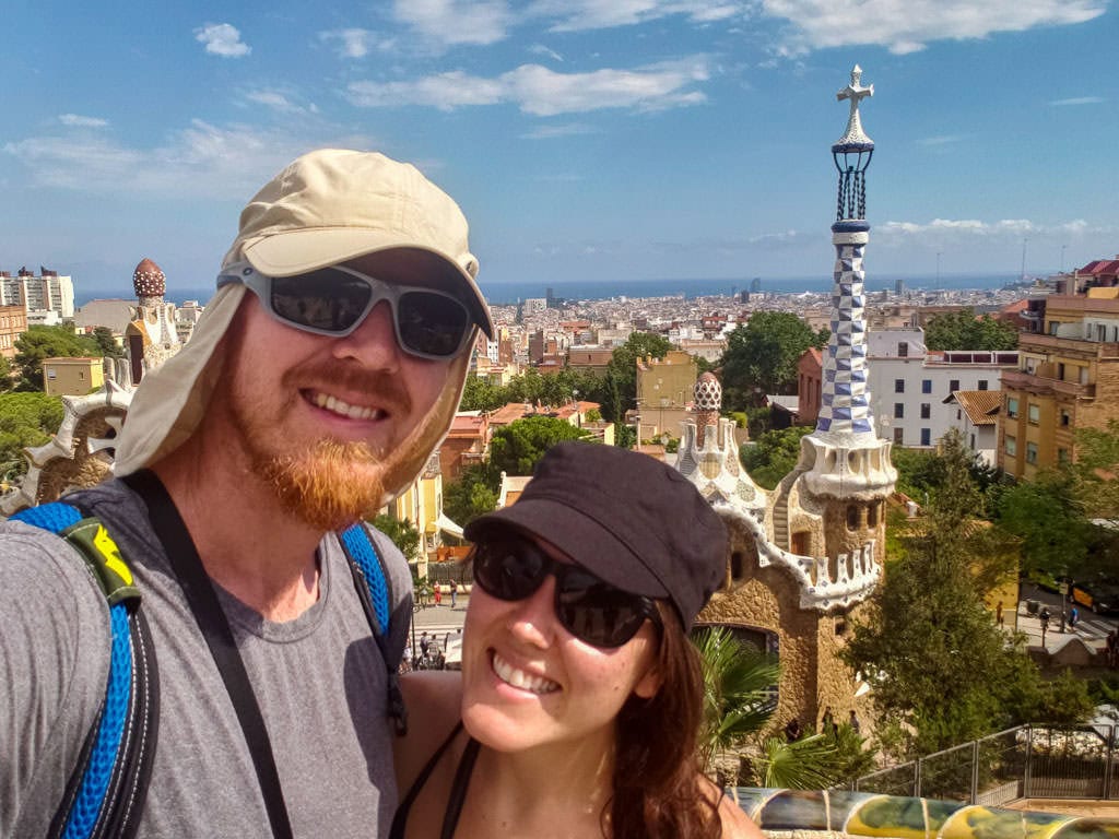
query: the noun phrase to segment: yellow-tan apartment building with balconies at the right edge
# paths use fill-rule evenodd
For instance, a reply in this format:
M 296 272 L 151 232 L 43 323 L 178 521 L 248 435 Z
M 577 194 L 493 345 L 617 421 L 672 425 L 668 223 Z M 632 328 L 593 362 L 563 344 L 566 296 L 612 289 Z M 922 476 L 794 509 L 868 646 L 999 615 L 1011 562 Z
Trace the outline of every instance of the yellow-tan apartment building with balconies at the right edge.
M 1075 458 L 1078 428 L 1119 418 L 1119 287 L 1050 294 L 1038 332 L 1003 373 L 998 465 L 1016 479 Z

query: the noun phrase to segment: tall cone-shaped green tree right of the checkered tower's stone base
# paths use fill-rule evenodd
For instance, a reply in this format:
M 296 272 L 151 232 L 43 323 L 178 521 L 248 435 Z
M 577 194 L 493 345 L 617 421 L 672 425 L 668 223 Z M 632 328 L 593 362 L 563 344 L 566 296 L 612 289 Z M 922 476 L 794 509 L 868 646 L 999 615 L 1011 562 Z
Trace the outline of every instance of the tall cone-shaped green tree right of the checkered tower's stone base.
M 1036 708 L 1037 669 L 994 625 L 977 582 L 979 490 L 960 451 L 944 465 L 840 653 L 869 681 L 883 725 L 900 732 L 900 757 L 1027 722 Z

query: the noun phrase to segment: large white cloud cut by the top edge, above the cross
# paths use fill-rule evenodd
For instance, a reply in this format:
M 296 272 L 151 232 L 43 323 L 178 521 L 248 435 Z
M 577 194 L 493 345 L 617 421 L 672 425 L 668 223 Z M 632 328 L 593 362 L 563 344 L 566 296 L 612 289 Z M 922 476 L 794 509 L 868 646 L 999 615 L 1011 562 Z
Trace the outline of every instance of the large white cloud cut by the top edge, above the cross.
M 764 13 L 791 25 L 787 55 L 873 44 L 899 55 L 940 39 L 1082 23 L 1107 11 L 1106 0 L 761 0 Z

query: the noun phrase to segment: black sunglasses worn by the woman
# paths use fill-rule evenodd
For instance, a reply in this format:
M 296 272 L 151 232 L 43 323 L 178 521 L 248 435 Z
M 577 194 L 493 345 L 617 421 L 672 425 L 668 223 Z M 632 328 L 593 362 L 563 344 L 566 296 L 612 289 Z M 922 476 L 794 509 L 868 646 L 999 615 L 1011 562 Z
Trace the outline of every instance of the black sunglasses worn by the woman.
M 615 588 L 579 565 L 557 563 L 528 539 L 487 539 L 474 546 L 472 559 L 474 582 L 504 601 L 524 600 L 555 575 L 560 624 L 592 647 L 621 647 L 646 619 L 660 625 L 651 598 Z

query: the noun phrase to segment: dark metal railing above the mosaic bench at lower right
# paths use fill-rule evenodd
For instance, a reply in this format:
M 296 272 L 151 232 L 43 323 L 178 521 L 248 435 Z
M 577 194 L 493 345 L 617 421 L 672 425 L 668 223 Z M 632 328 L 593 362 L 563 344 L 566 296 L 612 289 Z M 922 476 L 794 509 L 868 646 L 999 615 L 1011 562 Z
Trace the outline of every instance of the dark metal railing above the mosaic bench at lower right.
M 998 807 L 1119 799 L 1115 725 L 1023 725 L 856 779 L 849 789 Z

